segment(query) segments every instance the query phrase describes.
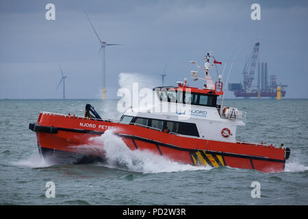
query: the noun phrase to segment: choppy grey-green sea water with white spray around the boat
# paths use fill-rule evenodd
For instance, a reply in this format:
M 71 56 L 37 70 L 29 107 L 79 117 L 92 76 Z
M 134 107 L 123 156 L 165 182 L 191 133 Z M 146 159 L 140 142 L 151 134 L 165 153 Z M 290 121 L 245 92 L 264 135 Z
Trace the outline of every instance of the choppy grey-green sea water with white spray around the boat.
M 107 164 L 51 166 L 38 153 L 29 123 L 41 111 L 82 116 L 90 103 L 102 118 L 120 118 L 116 100 L 0 100 L 0 205 L 307 205 L 308 100 L 227 99 L 247 112 L 237 140 L 285 144 L 285 170 L 197 167 L 149 152 L 130 151 L 107 131 L 84 150 L 102 153 Z M 47 182 L 55 198 L 47 198 Z M 259 182 L 260 198 L 251 187 Z

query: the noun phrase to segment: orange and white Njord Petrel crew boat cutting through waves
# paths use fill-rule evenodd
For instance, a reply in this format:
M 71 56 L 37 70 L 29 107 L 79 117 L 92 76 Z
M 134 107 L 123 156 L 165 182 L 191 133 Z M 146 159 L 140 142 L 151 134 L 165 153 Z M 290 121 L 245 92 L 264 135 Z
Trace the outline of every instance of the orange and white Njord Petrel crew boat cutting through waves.
M 131 150 L 151 151 L 172 161 L 193 166 L 229 166 L 262 172 L 284 170 L 290 149 L 283 144 L 257 144 L 235 139 L 238 126 L 245 125 L 246 112 L 218 105 L 224 94 L 222 76 L 214 83 L 209 74 L 209 59 L 205 56 L 205 78 L 191 71 L 195 80 L 206 81 L 203 88 L 190 87 L 178 81 L 177 86 L 154 88 L 157 105 L 146 110 L 129 107 L 120 120 L 101 118 L 91 105 L 83 116 L 40 112 L 29 129 L 36 132 L 38 151 L 54 164 L 106 162 L 92 150 L 79 150 L 92 145 L 95 137 L 112 129 Z M 192 61 L 191 61 L 192 62 Z M 196 62 L 192 62 L 196 64 Z M 162 107 L 168 112 L 162 112 Z M 103 148 L 103 143 L 101 143 Z

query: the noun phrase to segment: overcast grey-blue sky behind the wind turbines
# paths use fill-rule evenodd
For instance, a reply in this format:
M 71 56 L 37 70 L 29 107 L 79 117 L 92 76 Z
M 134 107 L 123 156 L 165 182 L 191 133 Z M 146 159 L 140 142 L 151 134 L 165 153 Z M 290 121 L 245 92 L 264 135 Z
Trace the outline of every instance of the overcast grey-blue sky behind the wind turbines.
M 55 4 L 55 21 L 45 5 Z M 261 5 L 261 21 L 251 20 L 251 4 Z M 60 69 L 68 76 L 67 99 L 99 98 L 99 40 L 107 47 L 108 98 L 116 98 L 119 73 L 140 73 L 159 86 L 155 72 L 168 68 L 165 85 L 189 78 L 205 51 L 218 61 L 230 55 L 229 82 L 242 81 L 246 55 L 260 42 L 260 61 L 269 75 L 287 83 L 287 98 L 308 98 L 308 1 L 0 1 L 0 99 L 57 99 Z M 222 70 L 222 68 L 220 68 Z M 214 73 L 213 73 L 214 75 Z M 159 81 L 160 82 L 160 81 Z M 227 92 L 226 97 L 234 97 Z

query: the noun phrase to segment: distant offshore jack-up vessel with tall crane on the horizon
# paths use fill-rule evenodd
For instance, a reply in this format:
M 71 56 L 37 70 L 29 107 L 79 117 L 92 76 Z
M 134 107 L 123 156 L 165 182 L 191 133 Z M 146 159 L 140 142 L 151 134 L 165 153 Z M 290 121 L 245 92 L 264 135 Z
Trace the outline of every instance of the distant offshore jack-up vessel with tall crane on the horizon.
M 287 85 L 278 84 L 276 75 L 270 75 L 270 81 L 268 81 L 268 63 L 259 62 L 259 47 L 260 43 L 257 42 L 251 55 L 246 58 L 243 83 L 229 83 L 229 90 L 234 93 L 235 97 L 277 97 L 277 99 L 280 99 L 281 96 L 285 96 Z M 253 86 L 256 68 L 258 73 L 257 86 Z

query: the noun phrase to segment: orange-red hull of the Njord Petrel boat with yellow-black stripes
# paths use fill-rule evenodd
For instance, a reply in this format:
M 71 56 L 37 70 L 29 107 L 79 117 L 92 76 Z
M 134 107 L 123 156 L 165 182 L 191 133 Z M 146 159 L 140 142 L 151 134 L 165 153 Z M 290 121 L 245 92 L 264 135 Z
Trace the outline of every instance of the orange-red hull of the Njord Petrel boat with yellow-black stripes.
M 107 129 L 114 129 L 131 150 L 152 151 L 184 164 L 279 172 L 290 155 L 290 150 L 262 144 L 188 138 L 109 120 L 46 113 L 40 113 L 37 123 L 31 123 L 29 129 L 36 131 L 40 153 L 63 163 L 103 161 L 95 151 L 81 151 L 79 147 L 91 145 L 92 137 L 101 136 Z

